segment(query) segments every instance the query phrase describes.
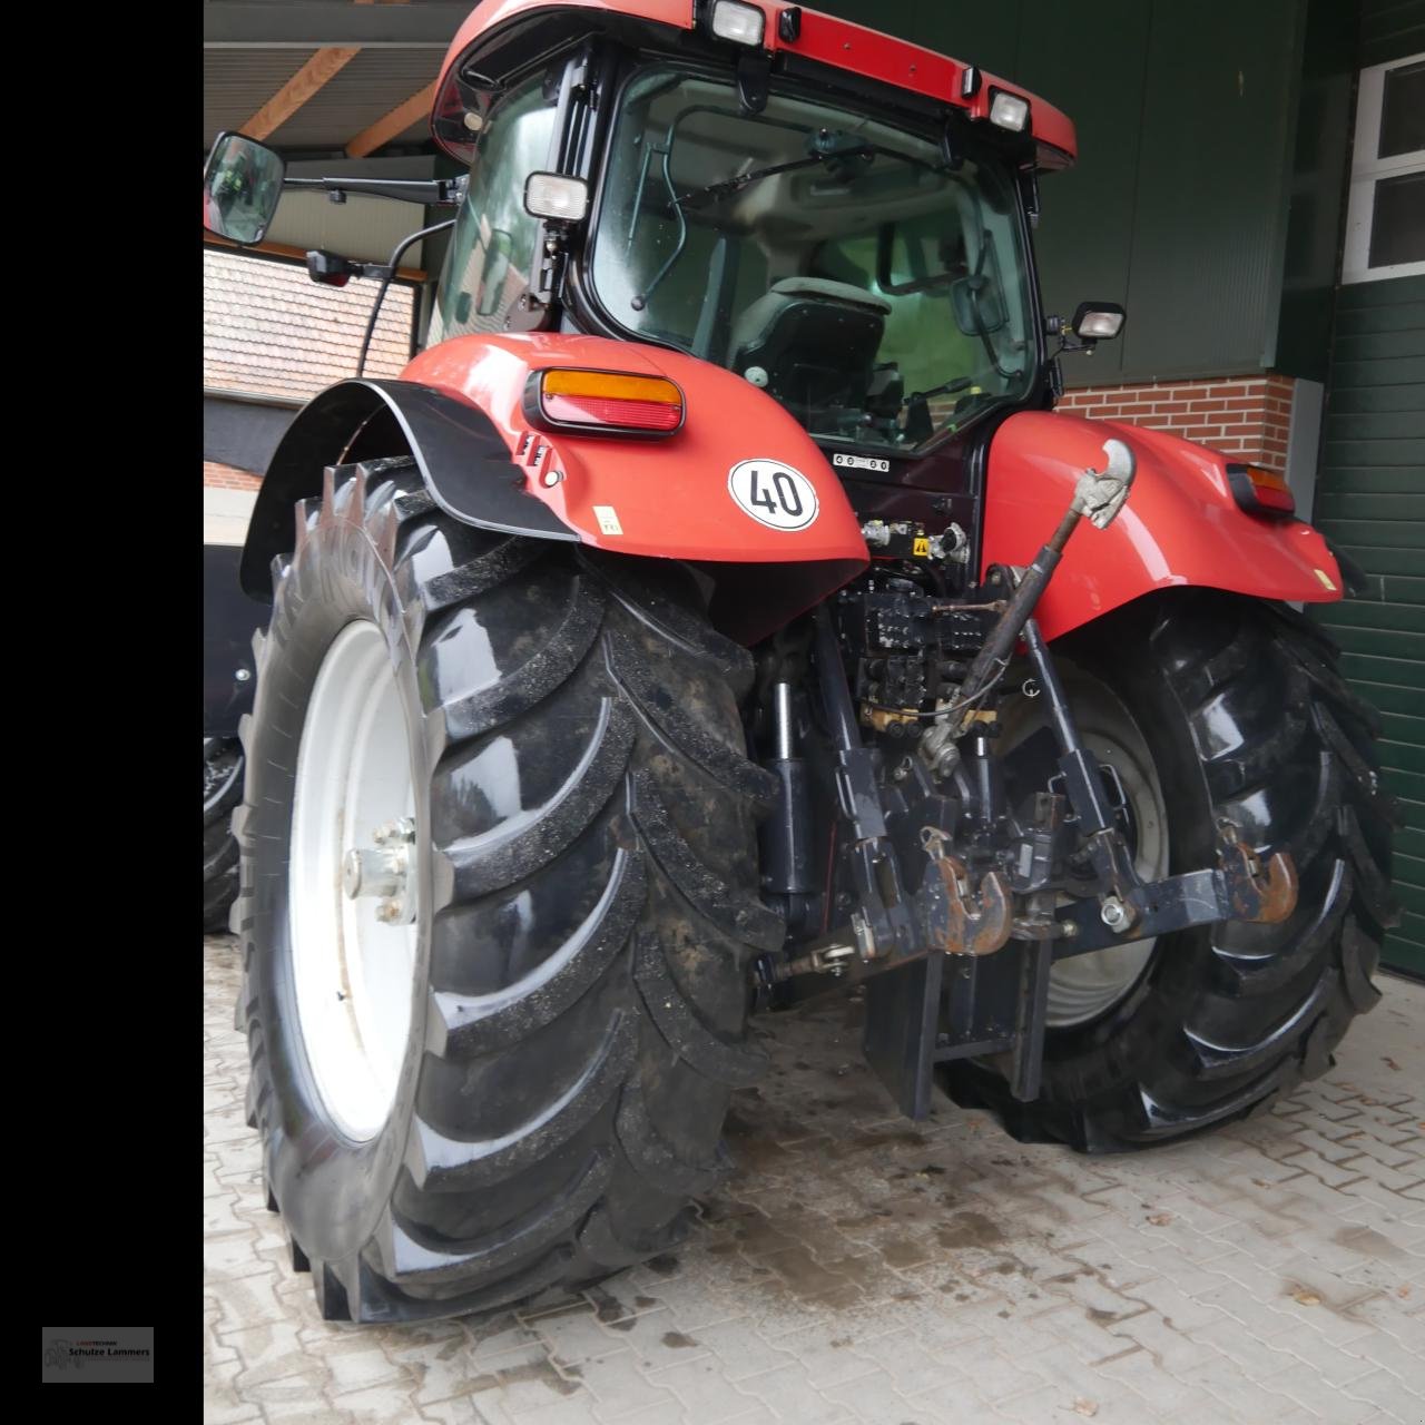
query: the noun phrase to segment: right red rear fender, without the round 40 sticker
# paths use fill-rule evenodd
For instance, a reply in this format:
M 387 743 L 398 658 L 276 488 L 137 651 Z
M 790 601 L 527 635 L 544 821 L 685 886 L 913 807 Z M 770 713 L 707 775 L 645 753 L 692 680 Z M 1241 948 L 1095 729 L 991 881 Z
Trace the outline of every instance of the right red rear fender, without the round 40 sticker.
M 1010 416 L 990 445 L 985 566 L 1035 557 L 1079 475 L 1104 467 L 1110 436 L 1133 450 L 1137 477 L 1109 529 L 1084 522 L 1070 539 L 1039 606 L 1045 637 L 1174 584 L 1302 603 L 1341 597 L 1341 571 L 1325 540 L 1301 520 L 1243 510 L 1218 452 L 1160 430 L 1043 410 Z

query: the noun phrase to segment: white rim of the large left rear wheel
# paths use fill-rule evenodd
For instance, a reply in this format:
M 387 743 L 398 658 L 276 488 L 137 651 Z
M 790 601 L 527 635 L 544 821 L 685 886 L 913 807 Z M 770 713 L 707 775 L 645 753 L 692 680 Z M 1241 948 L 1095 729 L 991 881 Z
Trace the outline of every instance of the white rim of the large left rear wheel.
M 296 1017 L 326 1112 L 356 1141 L 390 1114 L 410 1039 L 418 925 L 383 923 L 343 866 L 415 822 L 412 735 L 380 630 L 348 624 L 322 658 L 296 760 L 288 915 Z M 416 841 L 419 845 L 419 838 Z M 415 848 L 402 892 L 416 895 Z M 408 902 L 409 905 L 409 902 Z

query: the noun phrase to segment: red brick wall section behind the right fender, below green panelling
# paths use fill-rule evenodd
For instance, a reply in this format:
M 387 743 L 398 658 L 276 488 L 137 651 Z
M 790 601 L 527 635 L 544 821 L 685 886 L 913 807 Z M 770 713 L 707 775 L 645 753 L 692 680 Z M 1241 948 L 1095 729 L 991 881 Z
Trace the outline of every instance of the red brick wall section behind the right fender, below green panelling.
M 1290 376 L 1154 380 L 1139 386 L 1069 390 L 1060 410 L 1168 430 L 1268 470 L 1287 467 Z

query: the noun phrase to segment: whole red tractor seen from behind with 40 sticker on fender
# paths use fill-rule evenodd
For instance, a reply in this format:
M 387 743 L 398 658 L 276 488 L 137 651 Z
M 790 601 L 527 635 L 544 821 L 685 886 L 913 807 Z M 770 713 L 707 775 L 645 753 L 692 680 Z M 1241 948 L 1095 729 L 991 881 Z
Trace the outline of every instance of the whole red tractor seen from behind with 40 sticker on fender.
M 437 95 L 466 178 L 308 181 L 457 209 L 428 345 L 296 416 L 242 561 L 248 1104 L 323 1312 L 664 1251 L 748 1015 L 829 989 L 905 1113 L 1084 1151 L 1325 1070 L 1394 915 L 1342 571 L 1280 476 L 1054 413 L 1123 322 L 1040 305 L 1070 121 L 781 0 L 486 0 Z M 282 185 L 224 135 L 205 221 Z

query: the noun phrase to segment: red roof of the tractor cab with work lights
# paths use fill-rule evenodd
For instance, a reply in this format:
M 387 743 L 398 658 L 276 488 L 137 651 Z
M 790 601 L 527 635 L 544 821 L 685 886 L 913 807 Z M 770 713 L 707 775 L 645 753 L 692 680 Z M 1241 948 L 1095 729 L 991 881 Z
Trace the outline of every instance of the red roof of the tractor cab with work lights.
M 1040 168 L 1067 168 L 1077 155 L 1073 121 L 1053 104 L 1037 98 L 1019 84 L 922 48 L 895 36 L 869 30 L 851 20 L 822 14 L 782 0 L 741 0 L 765 16 L 762 51 L 788 54 L 841 70 L 859 78 L 889 84 L 911 94 L 962 110 L 972 120 L 989 121 L 996 93 L 1029 101 L 1029 130 L 1037 144 Z M 483 0 L 456 31 L 446 53 L 432 111 L 432 135 L 436 145 L 452 158 L 467 164 L 473 155 L 475 135 L 463 127 L 466 100 L 459 76 L 472 61 L 480 64 L 483 78 L 499 81 L 500 41 L 522 24 L 560 14 L 573 21 L 570 33 L 613 28 L 628 21 L 665 26 L 670 31 L 707 28 L 700 26 L 700 11 L 711 10 L 711 0 Z M 707 30 L 711 36 L 711 31 Z M 674 38 L 674 36 L 670 36 Z M 725 43 L 725 41 L 718 41 Z M 728 53 L 740 46 L 727 44 Z

